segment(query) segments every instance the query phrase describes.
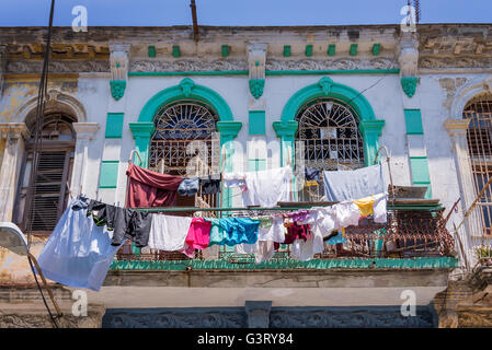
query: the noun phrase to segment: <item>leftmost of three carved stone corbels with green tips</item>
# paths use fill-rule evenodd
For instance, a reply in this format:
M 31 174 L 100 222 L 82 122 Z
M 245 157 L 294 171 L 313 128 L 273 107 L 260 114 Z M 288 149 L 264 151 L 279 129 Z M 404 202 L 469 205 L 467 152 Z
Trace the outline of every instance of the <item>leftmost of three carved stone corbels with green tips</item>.
M 129 49 L 127 44 L 110 45 L 110 68 L 111 68 L 111 95 L 118 101 L 125 94 L 126 82 L 128 80 Z

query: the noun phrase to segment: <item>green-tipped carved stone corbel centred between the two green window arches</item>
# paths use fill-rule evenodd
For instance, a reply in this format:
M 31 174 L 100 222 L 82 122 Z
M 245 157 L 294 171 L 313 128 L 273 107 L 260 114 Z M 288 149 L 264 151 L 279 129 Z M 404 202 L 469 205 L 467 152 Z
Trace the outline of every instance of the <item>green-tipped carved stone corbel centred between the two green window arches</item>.
M 267 44 L 248 45 L 249 85 L 251 95 L 259 100 L 265 86 L 265 63 Z

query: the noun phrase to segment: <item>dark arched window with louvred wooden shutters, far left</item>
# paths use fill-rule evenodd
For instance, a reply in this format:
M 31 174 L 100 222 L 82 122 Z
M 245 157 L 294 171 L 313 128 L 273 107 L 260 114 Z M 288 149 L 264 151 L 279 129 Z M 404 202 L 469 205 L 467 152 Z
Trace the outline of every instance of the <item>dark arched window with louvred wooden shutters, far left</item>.
M 35 116 L 26 119 L 31 131 L 25 142 L 25 155 L 19 178 L 14 221 L 28 229 L 28 211 L 33 210 L 31 230 L 34 234 L 49 234 L 68 205 L 70 177 L 73 163 L 76 133 L 72 122 L 77 119 L 67 114 L 50 113 L 42 126 L 42 150 L 38 152 L 37 172 L 31 184 Z M 33 187 L 31 198 L 28 187 Z

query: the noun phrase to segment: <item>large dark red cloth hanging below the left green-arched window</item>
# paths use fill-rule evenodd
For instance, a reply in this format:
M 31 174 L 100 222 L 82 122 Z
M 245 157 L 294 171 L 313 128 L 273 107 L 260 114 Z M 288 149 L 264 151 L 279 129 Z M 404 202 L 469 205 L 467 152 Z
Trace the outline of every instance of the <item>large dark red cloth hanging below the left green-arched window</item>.
M 128 208 L 172 207 L 183 177 L 151 172 L 129 163 L 126 171 Z

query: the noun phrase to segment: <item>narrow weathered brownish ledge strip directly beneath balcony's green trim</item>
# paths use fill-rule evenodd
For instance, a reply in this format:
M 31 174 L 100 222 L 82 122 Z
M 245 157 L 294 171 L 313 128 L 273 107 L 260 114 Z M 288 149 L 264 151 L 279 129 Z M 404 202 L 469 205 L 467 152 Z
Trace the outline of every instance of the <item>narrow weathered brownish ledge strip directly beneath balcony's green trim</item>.
M 104 285 L 190 288 L 446 287 L 450 269 L 112 270 Z

